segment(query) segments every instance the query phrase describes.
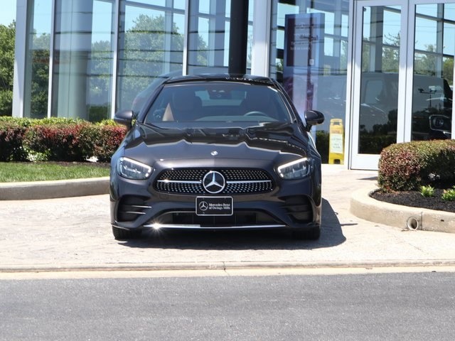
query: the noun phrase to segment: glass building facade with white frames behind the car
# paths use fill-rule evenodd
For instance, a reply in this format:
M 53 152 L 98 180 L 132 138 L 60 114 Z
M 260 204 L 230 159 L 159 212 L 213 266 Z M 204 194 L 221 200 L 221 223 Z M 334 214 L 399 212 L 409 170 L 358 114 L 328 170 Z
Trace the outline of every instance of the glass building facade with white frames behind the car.
M 451 138 L 455 0 L 246 4 L 247 73 L 326 115 L 324 161 L 375 169 L 389 144 Z M 231 0 L 17 0 L 13 115 L 101 121 L 164 76 L 227 72 L 232 14 Z

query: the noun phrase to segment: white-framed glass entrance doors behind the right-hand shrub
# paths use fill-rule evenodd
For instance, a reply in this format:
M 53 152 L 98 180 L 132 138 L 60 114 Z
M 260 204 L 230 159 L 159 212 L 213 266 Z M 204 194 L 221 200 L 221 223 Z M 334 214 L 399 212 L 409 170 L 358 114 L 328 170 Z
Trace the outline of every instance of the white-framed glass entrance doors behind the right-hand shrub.
M 378 169 L 390 144 L 451 138 L 454 3 L 355 2 L 350 168 Z

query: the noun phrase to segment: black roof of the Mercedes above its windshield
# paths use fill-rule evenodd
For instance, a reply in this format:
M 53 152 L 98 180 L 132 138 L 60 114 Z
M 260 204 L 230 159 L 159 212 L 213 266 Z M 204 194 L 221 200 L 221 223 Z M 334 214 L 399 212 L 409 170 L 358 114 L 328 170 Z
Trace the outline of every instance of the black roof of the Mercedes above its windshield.
M 206 73 L 199 75 L 186 75 L 170 77 L 164 81 L 164 84 L 175 84 L 184 82 L 198 82 L 198 81 L 220 81 L 220 82 L 247 82 L 263 85 L 274 85 L 275 83 L 269 77 L 254 76 L 254 75 L 233 75 L 228 73 Z

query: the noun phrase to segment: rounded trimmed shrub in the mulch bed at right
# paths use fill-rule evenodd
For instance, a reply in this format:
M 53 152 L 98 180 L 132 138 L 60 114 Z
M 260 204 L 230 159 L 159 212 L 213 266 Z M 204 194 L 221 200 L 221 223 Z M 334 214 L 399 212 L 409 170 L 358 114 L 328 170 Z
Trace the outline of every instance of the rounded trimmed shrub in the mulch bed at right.
M 454 183 L 454 140 L 392 144 L 380 154 L 378 185 L 382 190 L 415 190 L 422 185 L 441 187 Z

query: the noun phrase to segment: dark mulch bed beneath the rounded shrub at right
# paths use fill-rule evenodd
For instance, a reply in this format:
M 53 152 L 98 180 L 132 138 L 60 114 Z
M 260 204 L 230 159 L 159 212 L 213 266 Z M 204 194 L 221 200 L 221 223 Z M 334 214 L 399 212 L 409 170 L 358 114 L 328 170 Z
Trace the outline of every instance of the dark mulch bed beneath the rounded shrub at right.
M 391 204 L 428 208 L 429 210 L 455 212 L 455 201 L 442 200 L 442 191 L 443 190 L 435 189 L 434 197 L 424 197 L 417 190 L 393 193 L 376 191 L 371 195 L 371 197 L 376 200 L 390 202 Z

